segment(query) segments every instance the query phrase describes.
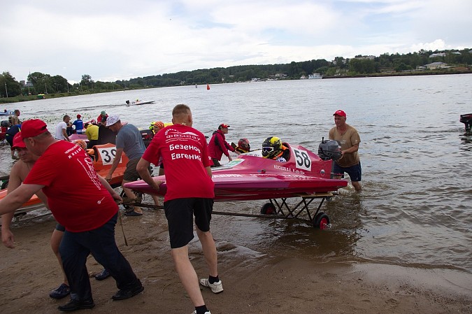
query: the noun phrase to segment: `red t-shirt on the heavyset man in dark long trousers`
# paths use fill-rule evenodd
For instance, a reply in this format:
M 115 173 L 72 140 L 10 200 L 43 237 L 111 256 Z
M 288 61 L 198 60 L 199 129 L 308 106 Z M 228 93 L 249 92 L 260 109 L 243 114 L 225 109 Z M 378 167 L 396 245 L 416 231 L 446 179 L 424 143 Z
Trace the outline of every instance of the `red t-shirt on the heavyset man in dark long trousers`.
M 24 184 L 45 186 L 43 192 L 52 215 L 68 231 L 101 227 L 118 210 L 85 150 L 67 141 L 50 145 L 35 162 Z

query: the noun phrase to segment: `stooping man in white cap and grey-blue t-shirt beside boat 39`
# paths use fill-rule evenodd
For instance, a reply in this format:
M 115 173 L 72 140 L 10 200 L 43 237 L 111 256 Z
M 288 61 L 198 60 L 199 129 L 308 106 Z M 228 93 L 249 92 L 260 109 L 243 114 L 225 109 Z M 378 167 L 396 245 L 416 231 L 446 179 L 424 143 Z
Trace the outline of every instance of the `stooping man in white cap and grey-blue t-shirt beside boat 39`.
M 129 183 L 132 181 L 138 180 L 140 178 L 138 171 L 136 170 L 136 165 L 143 156 L 146 147 L 143 142 L 143 137 L 141 132 L 133 124 L 122 123 L 119 115 L 110 115 L 106 118 L 106 126 L 108 129 L 112 130 L 117 134 L 116 136 L 116 155 L 113 159 L 113 164 L 111 165 L 108 175 L 105 177 L 106 180 L 111 180 L 113 172 L 120 164 L 121 155 L 126 154 L 129 162 L 126 165 L 126 170 L 123 173 L 123 182 Z M 127 187 L 123 187 L 124 194 L 131 199 L 131 201 L 136 201 L 136 195 L 133 191 L 129 190 Z M 156 196 L 152 196 L 155 205 L 159 204 L 159 199 Z M 133 210 L 129 210 L 125 213 L 127 216 L 141 216 L 143 211 L 138 206 L 133 206 Z

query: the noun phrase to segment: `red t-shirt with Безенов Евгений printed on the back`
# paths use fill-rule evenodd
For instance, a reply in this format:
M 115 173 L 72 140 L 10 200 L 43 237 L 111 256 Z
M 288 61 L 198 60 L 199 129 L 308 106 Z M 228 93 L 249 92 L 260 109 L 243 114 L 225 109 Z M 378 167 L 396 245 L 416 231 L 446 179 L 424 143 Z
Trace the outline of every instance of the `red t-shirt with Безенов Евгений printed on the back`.
M 206 138 L 200 131 L 182 124 L 165 127 L 152 138 L 143 159 L 165 166 L 167 192 L 164 201 L 215 197 L 214 183 L 206 172 L 210 166 Z

